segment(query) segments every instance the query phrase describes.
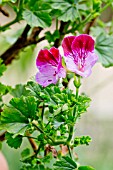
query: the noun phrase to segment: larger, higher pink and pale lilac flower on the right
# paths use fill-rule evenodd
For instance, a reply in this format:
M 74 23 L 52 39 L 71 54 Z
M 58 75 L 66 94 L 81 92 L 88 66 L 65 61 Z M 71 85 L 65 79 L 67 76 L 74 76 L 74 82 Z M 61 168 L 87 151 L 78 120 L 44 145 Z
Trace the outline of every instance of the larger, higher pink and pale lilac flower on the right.
M 87 34 L 68 36 L 64 38 L 62 47 L 68 70 L 82 77 L 88 77 L 98 59 L 94 53 L 93 38 Z

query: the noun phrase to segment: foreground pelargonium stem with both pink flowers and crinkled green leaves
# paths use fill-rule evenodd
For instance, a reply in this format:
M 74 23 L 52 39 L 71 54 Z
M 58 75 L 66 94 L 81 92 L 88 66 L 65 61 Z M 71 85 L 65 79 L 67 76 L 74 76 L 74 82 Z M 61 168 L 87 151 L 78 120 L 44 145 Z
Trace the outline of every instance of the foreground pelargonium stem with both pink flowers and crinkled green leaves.
M 91 141 L 89 136 L 76 136 L 74 129 L 90 103 L 79 88 L 81 77 L 88 77 L 97 61 L 94 39 L 86 34 L 68 36 L 62 48 L 64 61 L 55 47 L 39 51 L 35 80 L 17 85 L 1 113 L 0 128 L 7 131 L 8 145 L 17 149 L 28 138 L 32 146 L 21 153 L 21 170 L 94 170 L 80 165 L 74 154 L 77 146 Z M 76 92 L 66 84 L 69 77 Z

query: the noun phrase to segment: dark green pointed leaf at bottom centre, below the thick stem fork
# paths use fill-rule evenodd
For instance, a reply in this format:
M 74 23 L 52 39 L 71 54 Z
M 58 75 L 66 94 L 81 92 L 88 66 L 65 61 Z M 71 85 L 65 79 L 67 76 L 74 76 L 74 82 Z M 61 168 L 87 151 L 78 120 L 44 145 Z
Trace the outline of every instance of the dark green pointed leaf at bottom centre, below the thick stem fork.
M 58 170 L 74 170 L 77 168 L 77 164 L 68 156 L 63 156 L 54 166 L 57 167 Z

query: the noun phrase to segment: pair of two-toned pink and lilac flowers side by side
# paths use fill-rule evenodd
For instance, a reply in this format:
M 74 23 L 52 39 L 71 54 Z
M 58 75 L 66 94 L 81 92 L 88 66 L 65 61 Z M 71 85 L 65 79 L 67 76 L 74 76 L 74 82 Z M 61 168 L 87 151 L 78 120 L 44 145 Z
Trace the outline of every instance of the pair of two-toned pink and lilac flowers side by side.
M 87 34 L 68 36 L 63 39 L 62 47 L 67 69 L 82 77 L 88 77 L 98 59 L 94 53 L 93 38 Z M 59 78 L 66 77 L 62 57 L 55 47 L 50 50 L 40 50 L 36 65 L 39 70 L 36 81 L 43 87 L 52 83 L 56 84 Z

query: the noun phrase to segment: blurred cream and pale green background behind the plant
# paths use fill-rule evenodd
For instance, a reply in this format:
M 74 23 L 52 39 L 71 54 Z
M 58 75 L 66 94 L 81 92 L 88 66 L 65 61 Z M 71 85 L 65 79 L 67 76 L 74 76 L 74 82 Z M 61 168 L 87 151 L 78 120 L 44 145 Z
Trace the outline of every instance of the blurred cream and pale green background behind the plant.
M 6 8 L 10 17 L 5 17 L 0 13 L 0 25 L 4 25 L 15 17 L 10 7 L 6 6 Z M 111 17 L 112 12 L 109 8 L 103 13 L 102 18 L 108 22 Z M 25 23 L 21 22 L 0 34 L 1 54 L 15 42 L 24 26 Z M 35 49 L 34 46 L 27 47 L 19 54 L 19 59 L 13 60 L 12 64 L 8 65 L 0 81 L 12 86 L 26 83 L 36 74 L 35 59 L 38 51 L 46 45 L 47 42 L 43 41 Z M 71 88 L 74 87 L 71 85 Z M 90 135 L 92 142 L 87 147 L 80 146 L 76 149 L 76 153 L 80 157 L 79 162 L 83 165 L 92 165 L 96 170 L 113 170 L 113 68 L 104 68 L 97 63 L 91 76 L 82 80 L 81 92 L 90 96 L 92 102 L 88 112 L 77 123 L 76 134 Z M 7 103 L 9 99 L 10 96 L 6 96 L 4 101 Z M 23 142 L 21 148 L 26 145 L 29 146 L 27 140 Z M 20 152 L 18 149 L 9 148 L 3 142 L 2 153 L 8 162 L 9 170 L 19 170 Z

